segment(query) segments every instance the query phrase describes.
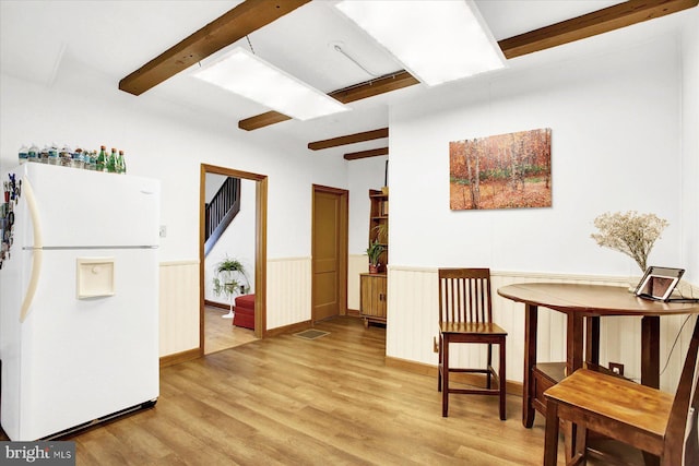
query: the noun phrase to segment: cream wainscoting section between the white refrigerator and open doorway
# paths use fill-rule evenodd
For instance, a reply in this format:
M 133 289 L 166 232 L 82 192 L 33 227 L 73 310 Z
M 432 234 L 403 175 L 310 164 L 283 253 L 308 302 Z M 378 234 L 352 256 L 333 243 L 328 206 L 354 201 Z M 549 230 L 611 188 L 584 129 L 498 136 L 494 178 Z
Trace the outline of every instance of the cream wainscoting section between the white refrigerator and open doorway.
M 199 261 L 161 263 L 161 357 L 199 348 Z

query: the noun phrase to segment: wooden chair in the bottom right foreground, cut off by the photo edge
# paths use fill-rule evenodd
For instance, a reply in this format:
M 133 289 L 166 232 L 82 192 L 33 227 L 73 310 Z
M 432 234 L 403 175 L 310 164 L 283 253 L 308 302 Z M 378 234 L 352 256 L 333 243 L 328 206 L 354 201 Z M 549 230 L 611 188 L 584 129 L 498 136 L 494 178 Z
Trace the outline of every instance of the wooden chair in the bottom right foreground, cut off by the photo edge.
M 572 422 L 568 464 L 584 464 L 588 429 L 639 449 L 647 464 L 699 465 L 699 319 L 675 396 L 589 369 L 552 386 L 546 396 L 544 465 L 556 465 L 559 420 Z M 568 429 L 570 430 L 570 429 Z M 655 455 L 655 457 L 649 457 Z

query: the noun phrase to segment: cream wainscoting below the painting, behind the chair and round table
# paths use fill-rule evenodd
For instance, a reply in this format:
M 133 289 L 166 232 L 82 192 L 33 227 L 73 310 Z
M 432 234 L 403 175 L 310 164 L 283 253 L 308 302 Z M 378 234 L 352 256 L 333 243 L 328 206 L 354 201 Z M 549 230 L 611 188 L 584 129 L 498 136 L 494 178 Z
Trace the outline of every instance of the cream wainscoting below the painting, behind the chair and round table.
M 507 379 L 523 380 L 524 304 L 497 295 L 499 287 L 514 283 L 579 283 L 628 286 L 628 277 L 510 273 L 491 271 L 494 319 L 508 331 Z M 387 356 L 436 366 L 434 338 L 439 334 L 437 321 L 437 270 L 389 266 Z M 674 392 L 687 351 L 691 325 L 679 330 L 687 316 L 661 320 L 661 389 Z M 694 323 L 694 320 L 689 320 Z M 678 336 L 679 335 L 679 336 Z M 565 314 L 545 308 L 538 311 L 537 358 L 540 361 L 566 360 Z M 671 355 L 675 339 L 677 344 Z M 620 362 L 625 375 L 640 380 L 640 318 L 605 318 L 601 323 L 600 362 Z M 481 345 L 483 346 L 483 345 Z M 476 348 L 474 348 L 476 349 Z M 481 349 L 481 348 L 477 348 Z M 484 365 L 485 350 L 452 351 L 459 365 Z

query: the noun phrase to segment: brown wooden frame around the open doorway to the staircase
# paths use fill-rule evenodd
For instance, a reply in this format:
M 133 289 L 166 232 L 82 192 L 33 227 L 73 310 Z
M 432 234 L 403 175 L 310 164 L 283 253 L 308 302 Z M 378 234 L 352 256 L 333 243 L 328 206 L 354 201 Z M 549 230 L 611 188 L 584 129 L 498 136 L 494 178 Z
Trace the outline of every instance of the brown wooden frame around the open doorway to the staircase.
M 204 355 L 206 306 L 205 306 L 205 203 L 206 175 L 251 180 L 254 182 L 254 337 L 264 337 L 266 330 L 266 192 L 268 179 L 264 175 L 234 170 L 225 167 L 201 164 L 200 210 L 199 210 L 199 354 Z M 228 324 L 233 325 L 230 320 Z

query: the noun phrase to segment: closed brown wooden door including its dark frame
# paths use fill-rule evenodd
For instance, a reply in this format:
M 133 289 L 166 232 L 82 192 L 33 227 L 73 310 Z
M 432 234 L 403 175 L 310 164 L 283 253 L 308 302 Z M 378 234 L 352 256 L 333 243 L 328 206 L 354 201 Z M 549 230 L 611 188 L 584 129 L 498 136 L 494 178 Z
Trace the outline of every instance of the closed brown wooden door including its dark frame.
M 312 322 L 347 313 L 347 225 L 350 192 L 313 184 Z

